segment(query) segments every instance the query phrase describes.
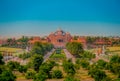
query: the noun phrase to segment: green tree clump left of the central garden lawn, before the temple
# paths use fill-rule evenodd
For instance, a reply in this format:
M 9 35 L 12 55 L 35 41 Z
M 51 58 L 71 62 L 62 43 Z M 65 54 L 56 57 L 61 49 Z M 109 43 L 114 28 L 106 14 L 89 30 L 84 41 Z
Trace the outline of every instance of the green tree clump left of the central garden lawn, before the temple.
M 46 52 L 50 51 L 53 48 L 53 45 L 50 43 L 40 43 L 36 42 L 33 45 L 33 48 L 31 50 L 32 54 L 39 54 L 44 55 Z

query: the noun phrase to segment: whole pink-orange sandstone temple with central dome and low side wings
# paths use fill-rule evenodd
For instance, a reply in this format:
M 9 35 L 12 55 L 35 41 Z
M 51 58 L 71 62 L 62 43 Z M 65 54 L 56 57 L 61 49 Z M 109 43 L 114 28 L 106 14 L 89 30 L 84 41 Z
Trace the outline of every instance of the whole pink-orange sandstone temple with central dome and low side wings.
M 33 37 L 33 39 L 29 41 L 29 44 L 34 44 L 35 42 L 50 42 L 55 48 L 65 48 L 67 42 L 80 42 L 84 48 L 86 47 L 85 37 L 78 37 L 77 40 L 74 40 L 69 32 L 65 32 L 61 29 L 50 33 L 45 38 Z

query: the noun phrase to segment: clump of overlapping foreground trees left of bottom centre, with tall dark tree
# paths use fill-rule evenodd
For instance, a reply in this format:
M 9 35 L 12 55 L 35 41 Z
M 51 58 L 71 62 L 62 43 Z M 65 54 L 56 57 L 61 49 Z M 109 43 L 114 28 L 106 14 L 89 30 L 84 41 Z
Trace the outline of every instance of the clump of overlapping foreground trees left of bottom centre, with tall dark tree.
M 34 81 L 45 81 L 48 78 L 62 78 L 63 74 L 60 70 L 53 70 L 56 65 L 54 61 L 43 62 L 41 55 L 34 55 L 32 59 L 34 70 L 27 71 L 26 78 L 33 79 Z

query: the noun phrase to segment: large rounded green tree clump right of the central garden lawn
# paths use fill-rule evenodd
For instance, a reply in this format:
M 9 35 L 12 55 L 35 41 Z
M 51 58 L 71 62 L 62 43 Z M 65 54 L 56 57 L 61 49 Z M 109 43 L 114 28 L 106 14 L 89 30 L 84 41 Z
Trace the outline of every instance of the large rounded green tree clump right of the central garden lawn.
M 80 53 L 84 52 L 82 44 L 79 42 L 68 42 L 66 44 L 66 48 L 71 54 L 75 56 L 79 56 Z

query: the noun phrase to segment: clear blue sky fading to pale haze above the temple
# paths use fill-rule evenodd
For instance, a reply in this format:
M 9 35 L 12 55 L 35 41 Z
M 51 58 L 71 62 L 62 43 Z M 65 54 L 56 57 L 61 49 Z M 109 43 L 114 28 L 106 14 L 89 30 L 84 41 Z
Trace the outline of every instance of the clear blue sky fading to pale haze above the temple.
M 0 0 L 0 36 L 120 36 L 120 0 Z

